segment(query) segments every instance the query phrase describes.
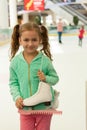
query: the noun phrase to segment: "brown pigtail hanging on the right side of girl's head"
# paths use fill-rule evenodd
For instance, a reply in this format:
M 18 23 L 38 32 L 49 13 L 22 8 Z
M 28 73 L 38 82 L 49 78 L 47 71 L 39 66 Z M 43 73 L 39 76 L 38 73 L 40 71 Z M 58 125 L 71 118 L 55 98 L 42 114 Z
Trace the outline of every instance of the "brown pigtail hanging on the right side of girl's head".
M 50 52 L 50 44 L 48 42 L 49 41 L 48 31 L 44 26 L 40 26 L 40 31 L 41 31 L 42 45 L 43 45 L 41 51 L 44 51 L 44 53 L 52 60 L 52 55 Z

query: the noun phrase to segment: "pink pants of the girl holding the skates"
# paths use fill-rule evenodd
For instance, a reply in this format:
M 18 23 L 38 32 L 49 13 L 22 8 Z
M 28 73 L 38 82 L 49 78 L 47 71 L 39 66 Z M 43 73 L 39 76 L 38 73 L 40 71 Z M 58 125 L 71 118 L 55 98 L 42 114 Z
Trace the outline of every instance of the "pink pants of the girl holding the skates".
M 20 115 L 20 130 L 50 130 L 52 115 Z

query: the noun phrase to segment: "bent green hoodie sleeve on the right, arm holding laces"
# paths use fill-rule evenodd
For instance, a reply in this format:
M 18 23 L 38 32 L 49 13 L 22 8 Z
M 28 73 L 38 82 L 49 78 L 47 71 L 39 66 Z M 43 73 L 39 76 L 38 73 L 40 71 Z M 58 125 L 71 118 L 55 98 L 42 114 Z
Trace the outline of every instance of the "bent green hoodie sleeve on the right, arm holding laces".
M 46 74 L 46 82 L 50 85 L 55 85 L 59 81 L 56 70 L 51 61 L 48 61 L 48 72 Z

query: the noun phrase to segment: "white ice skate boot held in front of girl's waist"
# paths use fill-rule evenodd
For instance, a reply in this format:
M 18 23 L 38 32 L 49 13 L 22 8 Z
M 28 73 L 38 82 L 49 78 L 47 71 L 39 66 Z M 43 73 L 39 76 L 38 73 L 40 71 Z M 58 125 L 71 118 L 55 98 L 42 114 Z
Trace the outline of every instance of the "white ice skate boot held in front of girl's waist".
M 45 82 L 40 82 L 38 91 L 29 98 L 23 100 L 24 106 L 34 106 L 43 102 L 49 102 L 52 100 L 52 94 L 50 86 Z

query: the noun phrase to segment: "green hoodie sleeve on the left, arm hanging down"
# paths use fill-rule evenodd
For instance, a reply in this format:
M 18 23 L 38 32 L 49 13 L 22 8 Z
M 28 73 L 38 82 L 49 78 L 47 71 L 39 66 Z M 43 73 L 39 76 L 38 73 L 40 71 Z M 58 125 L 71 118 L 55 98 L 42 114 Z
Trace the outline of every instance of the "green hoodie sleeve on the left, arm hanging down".
M 21 96 L 20 96 L 18 78 L 16 72 L 11 66 L 10 66 L 9 86 L 10 86 L 10 93 L 13 97 L 13 100 L 16 101 L 16 99 Z

